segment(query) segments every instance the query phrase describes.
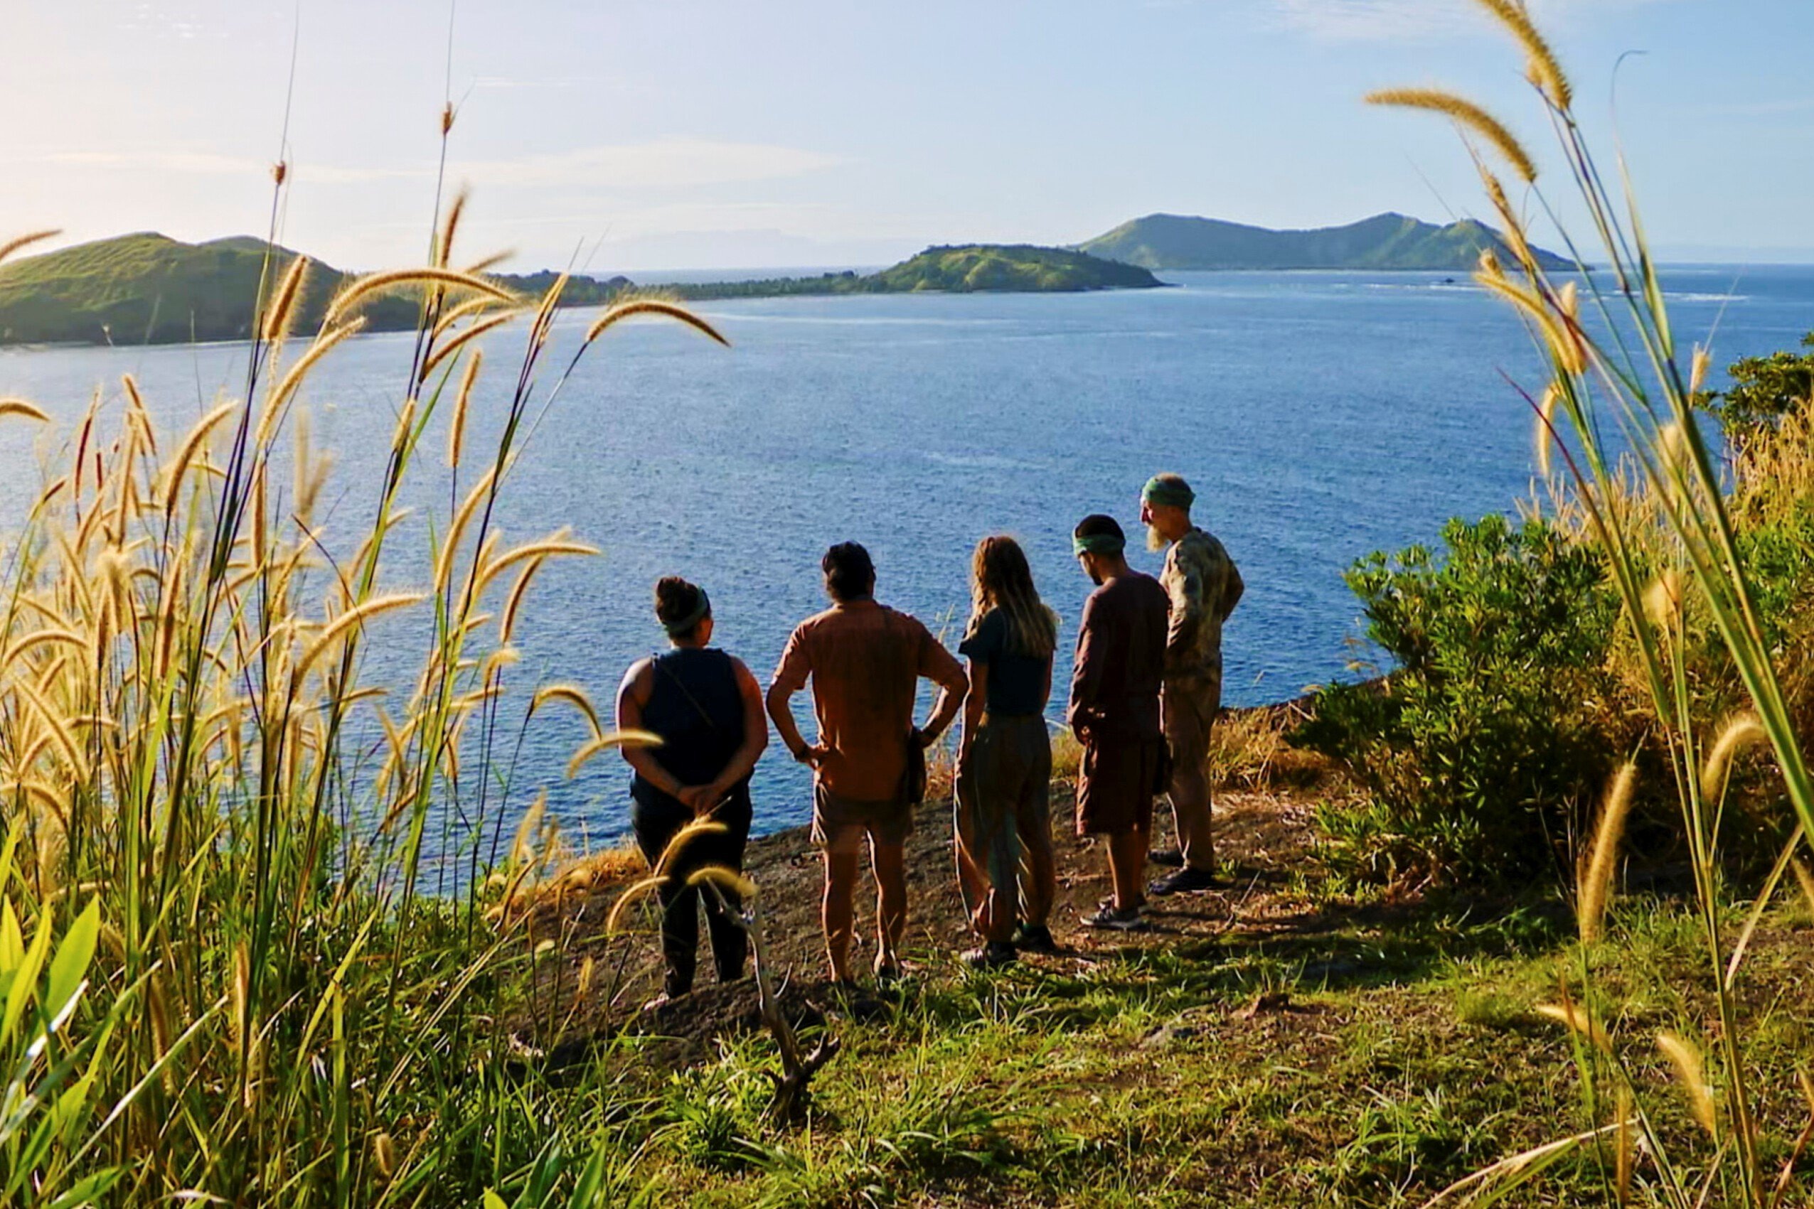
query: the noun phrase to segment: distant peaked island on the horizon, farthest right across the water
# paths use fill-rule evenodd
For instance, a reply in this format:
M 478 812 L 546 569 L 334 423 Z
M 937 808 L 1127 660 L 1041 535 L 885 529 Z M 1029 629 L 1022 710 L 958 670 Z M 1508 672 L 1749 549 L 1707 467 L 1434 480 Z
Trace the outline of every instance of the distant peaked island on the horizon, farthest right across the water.
M 1353 268 L 1353 270 L 1449 270 L 1466 272 L 1493 248 L 1511 261 L 1491 227 L 1473 219 L 1437 227 L 1404 214 L 1375 214 L 1348 227 L 1315 230 L 1270 230 L 1224 223 L 1214 218 L 1148 214 L 1078 245 L 1141 268 Z M 1536 248 L 1549 270 L 1575 268 L 1553 252 Z

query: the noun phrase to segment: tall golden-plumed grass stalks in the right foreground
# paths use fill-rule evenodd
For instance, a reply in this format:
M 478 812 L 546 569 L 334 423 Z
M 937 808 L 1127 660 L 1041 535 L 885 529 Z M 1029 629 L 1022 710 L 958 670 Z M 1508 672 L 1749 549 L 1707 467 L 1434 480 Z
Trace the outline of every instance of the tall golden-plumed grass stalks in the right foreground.
M 1526 54 L 1527 78 L 1555 132 L 1567 183 L 1593 228 L 1589 241 L 1576 243 L 1556 219 L 1535 183 L 1533 158 L 1498 120 L 1464 98 L 1429 89 L 1415 98 L 1386 91 L 1370 100 L 1453 118 L 1504 228 L 1515 265 L 1507 268 L 1487 252 L 1477 281 L 1518 312 L 1547 361 L 1547 382 L 1529 390 L 1526 401 L 1546 459 L 1551 451 L 1560 457 L 1555 491 L 1605 551 L 1624 602 L 1682 807 L 1712 1019 L 1692 1022 L 1691 1035 L 1620 1030 L 1618 1004 L 1596 979 L 1596 946 L 1618 944 L 1616 919 L 1605 923 L 1604 912 L 1618 863 L 1616 814 L 1631 792 L 1627 769 L 1609 794 L 1596 846 L 1582 870 L 1576 977 L 1558 986 L 1560 1002 L 1553 1006 L 1555 1019 L 1575 1039 L 1589 1120 L 1584 1129 L 1478 1173 L 1451 1193 L 1498 1198 L 1542 1167 L 1591 1147 L 1604 1164 L 1607 1198 L 1622 1205 L 1631 1200 L 1680 1209 L 1801 1204 L 1796 1165 L 1814 1129 L 1767 1136 L 1767 1102 L 1799 1106 L 1801 1093 L 1756 1086 L 1756 1064 L 1747 1051 L 1752 1020 L 1740 1013 L 1738 988 L 1752 928 L 1803 836 L 1814 830 L 1814 779 L 1785 692 L 1781 656 L 1760 622 L 1734 500 L 1696 413 L 1707 357 L 1683 348 L 1671 326 L 1624 160 L 1616 160 L 1614 189 L 1576 120 L 1567 76 L 1524 5 L 1480 4 Z M 1529 181 L 1518 203 L 1489 156 L 1506 160 Z M 1600 265 L 1567 281 L 1546 272 L 1529 243 L 1533 212 L 1564 230 L 1576 263 Z M 1596 323 L 1587 321 L 1589 314 Z M 1696 709 L 1685 622 L 1691 607 L 1705 614 L 1743 685 L 1745 718 L 1721 721 Z M 1734 901 L 1721 877 L 1721 845 L 1740 823 L 1725 814 L 1725 769 L 1734 747 L 1749 738 L 1769 745 L 1798 827 L 1749 921 L 1732 935 L 1727 919 Z M 1658 1055 L 1676 1071 L 1673 1089 L 1643 1075 Z M 1705 1126 L 1702 1149 L 1673 1147 L 1656 1126 L 1658 1098 L 1665 1095 L 1687 1098 Z

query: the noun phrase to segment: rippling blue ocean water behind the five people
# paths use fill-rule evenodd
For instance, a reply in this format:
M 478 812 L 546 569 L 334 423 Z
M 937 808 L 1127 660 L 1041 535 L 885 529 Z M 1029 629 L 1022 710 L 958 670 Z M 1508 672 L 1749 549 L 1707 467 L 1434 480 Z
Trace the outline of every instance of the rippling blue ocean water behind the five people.
M 550 564 L 532 589 L 517 709 L 561 680 L 608 711 L 626 665 L 662 645 L 649 589 L 666 573 L 711 591 L 718 643 L 766 680 L 789 629 L 824 607 L 818 556 L 838 540 L 871 549 L 878 598 L 956 645 L 970 549 L 1012 533 L 1063 618 L 1056 720 L 1088 593 L 1070 527 L 1107 511 L 1137 540 L 1137 491 L 1159 469 L 1190 479 L 1199 522 L 1248 584 L 1226 629 L 1228 701 L 1344 674 L 1359 634 L 1344 567 L 1529 495 L 1531 415 L 1507 377 L 1540 388 L 1538 359 L 1511 312 L 1462 276 L 1163 276 L 1174 288 L 700 305 L 731 350 L 678 326 L 611 332 L 532 411 L 541 421 L 499 513 L 510 540 L 566 524 L 606 551 Z M 1667 290 L 1678 339 L 1711 339 L 1716 364 L 1792 348 L 1814 328 L 1814 268 L 1678 268 Z M 561 315 L 550 366 L 566 364 L 588 319 Z M 473 460 L 497 440 L 521 339 L 486 346 Z M 116 411 L 131 372 L 174 437 L 234 392 L 245 357 L 238 344 L 0 350 L 0 397 L 36 401 L 67 433 L 96 390 Z M 330 535 L 363 533 L 372 517 L 408 357 L 408 335 L 363 337 L 312 379 L 314 439 L 336 455 Z M 0 522 L 40 482 L 44 439 L 29 430 L 0 424 Z M 419 515 L 446 515 L 443 446 L 437 417 L 405 489 Z M 426 531 L 397 540 L 388 580 L 419 584 Z M 379 634 L 368 682 L 401 676 L 406 638 Z M 804 696 L 796 712 L 811 734 Z M 521 747 L 508 736 L 506 816 L 546 788 L 570 839 L 597 845 L 626 827 L 628 769 L 602 758 L 566 781 L 580 738 L 566 714 L 537 718 Z M 809 814 L 807 776 L 778 745 L 755 799 L 758 830 Z

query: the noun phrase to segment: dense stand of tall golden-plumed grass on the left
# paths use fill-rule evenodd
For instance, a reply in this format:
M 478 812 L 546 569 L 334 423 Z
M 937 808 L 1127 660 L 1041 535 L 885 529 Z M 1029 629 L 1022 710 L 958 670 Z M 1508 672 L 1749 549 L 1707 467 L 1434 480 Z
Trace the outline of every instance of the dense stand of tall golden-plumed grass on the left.
M 533 832 L 508 854 L 495 839 L 522 798 L 495 736 L 524 602 L 550 560 L 597 551 L 564 529 L 508 546 L 493 517 L 533 421 L 615 323 L 657 314 L 722 337 L 628 301 L 550 366 L 564 279 L 519 299 L 461 270 L 461 208 L 428 265 L 352 283 L 316 334 L 290 330 L 308 263 L 267 281 L 243 393 L 187 433 L 158 431 L 127 379 L 123 417 L 87 411 L 7 546 L 7 1204 L 78 1204 L 102 1184 L 107 1204 L 622 1193 L 599 1142 L 610 1088 L 539 1098 L 533 1071 L 510 1073 L 504 995 L 550 955 L 486 912 L 510 886 L 483 875 L 493 857 L 510 883 L 535 865 Z M 328 533 L 330 468 L 297 399 L 361 306 L 397 290 L 421 323 L 388 459 L 363 526 Z M 499 442 L 463 448 L 475 381 L 497 366 Z M 423 442 L 446 410 L 443 464 Z M 22 401 L 0 422 L 47 424 Z M 448 509 L 419 582 L 419 558 L 395 566 L 397 498 L 426 473 L 446 477 Z M 379 618 L 386 643 L 421 643 L 414 678 L 361 682 Z M 595 734 L 580 759 L 620 738 Z M 455 817 L 490 845 L 446 845 Z M 428 874 L 444 848 L 466 890 L 441 897 Z

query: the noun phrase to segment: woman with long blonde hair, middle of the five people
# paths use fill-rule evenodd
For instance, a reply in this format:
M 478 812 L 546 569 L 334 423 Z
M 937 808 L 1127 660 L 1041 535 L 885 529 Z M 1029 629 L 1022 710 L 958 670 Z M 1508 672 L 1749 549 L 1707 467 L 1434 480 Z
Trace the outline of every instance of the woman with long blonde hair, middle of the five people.
M 1027 555 L 1010 537 L 985 537 L 970 558 L 970 620 L 958 653 L 970 662 L 958 743 L 958 888 L 981 948 L 976 966 L 1054 952 L 1047 915 L 1052 856 L 1052 696 L 1058 614 L 1039 600 Z

